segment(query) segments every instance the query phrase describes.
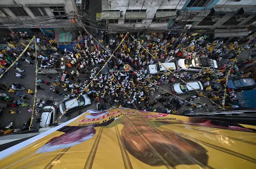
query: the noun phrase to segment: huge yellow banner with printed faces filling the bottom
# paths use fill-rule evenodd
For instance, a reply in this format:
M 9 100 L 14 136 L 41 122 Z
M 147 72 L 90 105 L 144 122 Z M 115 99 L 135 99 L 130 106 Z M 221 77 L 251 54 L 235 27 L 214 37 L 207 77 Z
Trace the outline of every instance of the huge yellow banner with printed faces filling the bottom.
M 255 131 L 249 125 L 133 109 L 88 110 L 0 152 L 0 168 L 253 169 Z

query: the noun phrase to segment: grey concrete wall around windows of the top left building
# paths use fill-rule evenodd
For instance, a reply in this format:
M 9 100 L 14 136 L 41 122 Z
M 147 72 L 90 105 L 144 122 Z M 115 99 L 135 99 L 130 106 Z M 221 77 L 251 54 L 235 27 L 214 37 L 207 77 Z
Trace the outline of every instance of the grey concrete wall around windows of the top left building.
M 66 13 L 68 14 L 70 11 L 75 11 L 77 10 L 77 6 L 76 6 L 76 1 L 75 0 L 43 0 L 43 1 L 39 1 L 39 0 L 1 0 L 0 1 L 0 8 L 2 8 L 4 11 L 6 11 L 6 13 L 9 14 L 9 17 L 0 17 L 0 22 L 12 22 L 12 23 L 5 23 L 4 25 L 10 28 L 22 28 L 22 27 L 26 27 L 26 28 L 35 28 L 38 26 L 38 24 L 46 24 L 46 23 L 51 23 L 51 22 L 55 22 L 55 21 L 60 21 L 60 20 L 55 20 L 53 18 L 53 13 L 50 10 L 50 6 L 64 6 Z M 27 14 L 29 15 L 28 17 L 16 17 L 12 11 L 8 8 L 8 7 L 23 7 L 24 10 L 27 12 Z M 30 7 L 43 7 L 44 10 L 46 11 L 48 16 L 44 16 L 44 17 L 36 17 L 34 16 L 34 14 L 32 13 L 32 11 L 29 9 Z M 51 17 L 51 18 L 49 18 Z M 43 19 L 46 20 L 43 20 Z M 39 20 L 38 19 L 42 19 Z M 34 21 L 34 22 L 29 22 L 27 20 L 38 20 L 38 21 Z M 27 21 L 27 22 L 22 22 L 22 21 Z M 21 24 L 23 23 L 23 24 Z M 69 21 L 65 21 L 65 22 L 61 22 L 62 25 L 70 25 Z M 15 27 L 13 27 L 15 25 Z M 53 24 L 55 25 L 55 24 Z M 11 27 L 12 26 L 12 27 Z M 44 27 L 51 27 L 51 24 L 47 24 L 44 25 Z M 41 27 L 41 26 L 39 26 Z

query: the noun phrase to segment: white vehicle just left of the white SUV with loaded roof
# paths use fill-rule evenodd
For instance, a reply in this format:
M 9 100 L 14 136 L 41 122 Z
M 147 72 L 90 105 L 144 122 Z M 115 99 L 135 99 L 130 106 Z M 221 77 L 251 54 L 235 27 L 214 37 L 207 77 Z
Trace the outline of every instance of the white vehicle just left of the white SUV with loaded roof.
M 169 68 L 171 71 L 176 70 L 175 63 L 162 63 L 166 68 Z M 150 74 L 163 74 L 168 73 L 169 71 L 163 67 L 163 65 L 157 63 L 156 65 L 148 65 L 148 71 Z

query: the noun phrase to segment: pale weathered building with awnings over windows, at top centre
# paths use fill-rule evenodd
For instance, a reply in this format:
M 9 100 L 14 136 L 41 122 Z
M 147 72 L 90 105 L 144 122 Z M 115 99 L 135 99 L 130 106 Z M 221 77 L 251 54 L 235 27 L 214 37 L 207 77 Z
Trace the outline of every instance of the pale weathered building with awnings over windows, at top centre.
M 166 30 L 187 0 L 102 0 L 107 30 Z

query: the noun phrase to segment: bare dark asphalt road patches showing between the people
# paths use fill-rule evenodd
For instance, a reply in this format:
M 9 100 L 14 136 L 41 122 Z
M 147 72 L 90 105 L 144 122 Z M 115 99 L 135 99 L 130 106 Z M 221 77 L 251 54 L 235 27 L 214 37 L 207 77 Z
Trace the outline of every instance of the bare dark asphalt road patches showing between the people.
M 243 51 L 241 52 L 240 56 L 239 56 L 239 59 L 245 59 L 248 54 L 250 53 L 250 51 Z M 253 53 L 254 54 L 254 53 Z M 177 59 L 179 58 L 175 58 L 175 60 L 173 60 L 172 62 L 175 62 Z M 22 61 L 18 61 L 22 66 L 20 69 L 22 70 L 25 70 L 26 72 L 24 74 L 26 74 L 26 77 L 24 79 L 21 79 L 19 77 L 16 77 L 14 75 L 14 73 L 17 73 L 17 71 L 13 68 L 11 68 L 9 70 L 9 74 L 5 75 L 4 78 L 0 79 L 0 83 L 3 83 L 5 84 L 6 86 L 10 86 L 12 85 L 13 82 L 19 82 L 20 84 L 22 84 L 26 90 L 28 89 L 32 89 L 33 91 L 35 91 L 35 64 L 34 65 L 28 65 L 26 62 L 22 62 Z M 221 60 L 220 62 L 218 62 L 218 65 L 222 65 L 224 62 L 224 60 Z M 248 65 L 249 66 L 249 65 Z M 99 67 L 99 65 L 98 65 Z M 70 71 L 72 71 L 74 68 L 67 68 L 66 70 L 70 73 Z M 245 68 L 243 68 L 245 69 Z M 89 69 L 90 70 L 90 69 Z M 189 72 L 190 74 L 193 74 L 192 72 Z M 57 74 L 54 74 L 54 75 L 51 75 L 52 76 L 52 79 L 49 79 L 47 76 L 45 75 L 38 75 L 38 78 L 39 79 L 42 79 L 42 80 L 46 80 L 50 83 L 53 83 L 54 82 L 54 79 L 58 76 Z M 75 78 L 77 79 L 77 78 Z M 83 75 L 80 77 L 80 79 L 83 81 L 84 78 L 83 78 Z M 70 82 L 72 82 L 72 80 L 70 80 Z M 176 80 L 176 82 L 179 82 L 178 80 Z M 51 90 L 49 90 L 49 86 L 47 85 L 44 85 L 44 84 L 41 84 L 41 83 L 38 83 L 38 85 L 41 85 L 41 87 L 45 90 L 38 90 L 38 93 L 37 93 L 37 98 L 39 99 L 42 99 L 42 100 L 53 100 L 53 101 L 57 101 L 57 102 L 61 102 L 64 98 L 64 96 L 59 96 L 55 93 L 52 93 Z M 221 84 L 218 84 L 220 86 L 222 86 Z M 160 87 L 166 89 L 166 90 L 171 90 L 171 84 L 168 83 L 166 85 L 159 85 Z M 64 92 L 63 91 L 63 87 L 57 87 L 57 89 L 62 92 L 62 93 L 65 93 L 65 94 L 69 94 L 67 92 Z M 30 96 L 26 90 L 21 90 L 21 92 L 23 94 L 27 94 L 27 96 L 29 96 L 29 99 L 27 100 L 27 102 L 29 104 L 31 104 L 31 106 L 29 108 L 32 108 L 32 104 L 33 104 L 33 99 L 34 99 L 34 96 Z M 10 94 L 8 93 L 8 91 L 1 91 L 1 93 L 7 93 L 7 94 Z M 155 92 L 154 93 L 154 96 L 159 94 L 159 91 L 158 92 Z M 207 94 L 207 93 L 205 93 Z M 191 96 L 193 94 L 186 94 L 186 95 L 181 95 L 180 97 L 185 99 L 189 96 Z M 10 96 L 14 97 L 15 94 L 14 93 L 11 93 Z M 151 96 L 151 101 L 154 99 L 154 96 Z M 107 96 L 107 99 L 109 98 L 109 96 Z M 18 100 L 20 99 L 19 97 L 15 97 L 15 100 Z M 128 100 L 128 99 L 127 99 Z M 181 100 L 181 99 L 180 99 Z M 196 110 L 194 112 L 197 112 L 197 111 L 200 111 L 200 112 L 207 112 L 207 111 L 211 111 L 211 110 L 218 110 L 218 106 L 215 106 L 215 105 L 212 105 L 212 103 L 209 101 L 209 99 L 205 99 L 205 98 L 201 98 L 201 99 L 195 99 L 194 103 L 207 103 L 208 104 L 208 107 L 207 108 L 204 108 L 204 109 L 201 109 L 201 110 Z M 186 103 L 185 103 L 186 105 Z M 183 106 L 181 107 L 181 110 L 179 110 L 179 113 L 183 110 L 186 110 L 186 106 Z M 115 106 L 117 107 L 117 103 L 115 103 Z M 157 105 L 155 105 L 154 107 L 163 107 L 163 112 L 166 111 L 164 105 L 162 102 L 158 102 Z M 14 121 L 15 122 L 15 128 L 22 128 L 23 127 L 23 124 L 29 119 L 31 118 L 31 113 L 29 113 L 27 111 L 27 108 L 28 107 L 17 107 L 16 109 L 19 109 L 20 110 L 20 113 L 15 113 L 15 114 L 10 114 L 9 113 L 9 110 L 11 110 L 12 108 L 6 108 L 3 112 L 3 115 L 0 117 L 0 127 L 4 128 L 6 127 L 11 121 Z M 107 108 L 110 108 L 110 106 L 108 106 Z M 40 108 L 38 108 L 40 110 Z M 96 103 L 93 103 L 91 104 L 89 107 L 86 107 L 86 108 L 82 108 L 81 110 L 77 110 L 76 112 L 73 112 L 71 113 L 70 115 L 68 116 L 64 116 L 63 118 L 61 118 L 59 120 L 59 122 L 64 122 L 64 121 L 67 121 L 73 117 L 76 117 L 77 115 L 79 115 L 80 113 L 83 113 L 85 112 L 86 110 L 88 109 L 94 109 L 96 110 Z M 61 114 L 58 113 L 58 117 L 60 116 Z M 34 119 L 36 119 L 37 117 L 34 115 Z M 36 124 L 35 121 L 33 121 L 33 125 L 34 127 L 37 127 L 39 126 L 39 124 Z

